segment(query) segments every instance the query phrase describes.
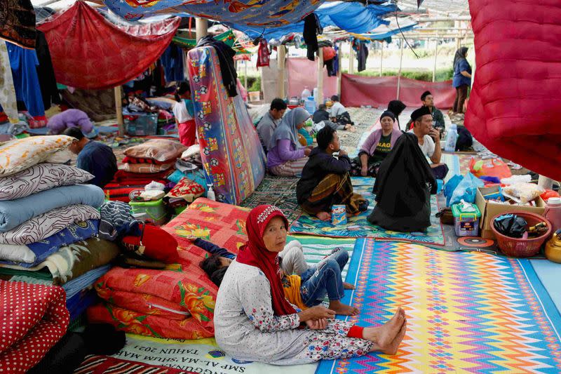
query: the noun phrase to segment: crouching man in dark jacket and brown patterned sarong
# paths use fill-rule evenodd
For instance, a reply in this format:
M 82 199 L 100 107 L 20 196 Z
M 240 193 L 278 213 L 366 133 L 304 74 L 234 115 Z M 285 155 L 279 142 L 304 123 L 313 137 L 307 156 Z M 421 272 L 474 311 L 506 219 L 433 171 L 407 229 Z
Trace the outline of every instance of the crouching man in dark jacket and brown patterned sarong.
M 353 193 L 351 159 L 340 148 L 339 135 L 330 126 L 322 128 L 316 137 L 318 147 L 312 149 L 296 186 L 296 196 L 302 210 L 320 220 L 331 218 L 331 206 L 344 204 L 346 213 L 354 215 L 368 208 L 368 201 Z M 339 152 L 339 158 L 333 156 Z

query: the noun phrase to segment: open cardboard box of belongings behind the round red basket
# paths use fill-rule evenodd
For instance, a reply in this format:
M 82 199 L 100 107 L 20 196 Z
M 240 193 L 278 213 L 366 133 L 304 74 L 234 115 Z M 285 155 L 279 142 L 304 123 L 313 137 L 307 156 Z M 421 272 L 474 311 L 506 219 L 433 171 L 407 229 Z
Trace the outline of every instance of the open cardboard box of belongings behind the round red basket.
M 536 206 L 520 206 L 520 205 L 507 205 L 495 203 L 494 201 L 487 201 L 484 195 L 494 194 L 499 191 L 499 187 L 480 187 L 478 188 L 477 195 L 475 195 L 475 205 L 478 206 L 481 212 L 481 237 L 484 239 L 495 239 L 495 235 L 491 229 L 491 220 L 495 215 L 501 213 L 513 212 L 528 212 L 543 215 L 546 210 L 546 203 L 543 202 L 541 197 L 536 199 Z

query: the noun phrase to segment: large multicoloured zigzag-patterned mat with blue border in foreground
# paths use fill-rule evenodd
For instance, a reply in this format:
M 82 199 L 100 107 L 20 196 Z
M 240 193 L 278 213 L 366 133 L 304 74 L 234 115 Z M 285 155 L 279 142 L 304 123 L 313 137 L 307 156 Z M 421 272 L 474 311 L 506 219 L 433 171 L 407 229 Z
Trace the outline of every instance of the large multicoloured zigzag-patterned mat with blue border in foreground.
M 405 309 L 394 356 L 321 361 L 316 373 L 559 373 L 561 316 L 529 260 L 356 241 L 344 319 L 383 323 Z M 349 297 L 350 296 L 350 297 Z

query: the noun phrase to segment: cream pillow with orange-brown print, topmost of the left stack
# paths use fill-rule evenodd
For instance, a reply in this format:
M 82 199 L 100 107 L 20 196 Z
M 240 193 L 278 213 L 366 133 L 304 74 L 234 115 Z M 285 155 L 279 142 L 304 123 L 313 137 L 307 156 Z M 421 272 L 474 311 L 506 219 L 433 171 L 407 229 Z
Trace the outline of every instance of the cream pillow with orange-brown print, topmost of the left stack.
M 67 148 L 74 138 L 66 135 L 32 136 L 0 145 L 0 177 L 24 171 L 46 161 L 60 149 Z

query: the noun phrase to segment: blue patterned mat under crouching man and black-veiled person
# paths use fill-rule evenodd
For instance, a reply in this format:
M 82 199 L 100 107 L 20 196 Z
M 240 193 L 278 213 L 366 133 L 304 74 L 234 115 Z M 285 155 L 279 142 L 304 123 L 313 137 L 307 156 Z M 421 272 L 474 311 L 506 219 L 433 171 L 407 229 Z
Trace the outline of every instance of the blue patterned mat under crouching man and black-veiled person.
M 352 180 L 355 192 L 363 195 L 365 199 L 370 201 L 370 206 L 367 211 L 355 217 L 348 218 L 346 225 L 332 225 L 331 222 L 324 222 L 307 213 L 302 213 L 298 220 L 292 223 L 290 233 L 354 238 L 374 237 L 379 239 L 414 241 L 436 246 L 445 245 L 440 220 L 435 217 L 435 214 L 431 214 L 431 227 L 428 227 L 426 232 L 394 232 L 372 225 L 367 221 L 367 217 L 372 213 L 372 209 L 375 205 L 374 195 L 372 194 L 374 179 L 352 178 Z M 438 212 L 438 203 L 435 195 L 431 196 L 431 212 Z

